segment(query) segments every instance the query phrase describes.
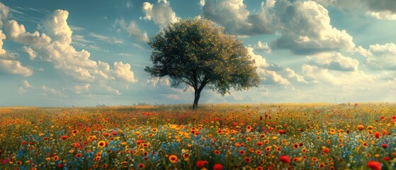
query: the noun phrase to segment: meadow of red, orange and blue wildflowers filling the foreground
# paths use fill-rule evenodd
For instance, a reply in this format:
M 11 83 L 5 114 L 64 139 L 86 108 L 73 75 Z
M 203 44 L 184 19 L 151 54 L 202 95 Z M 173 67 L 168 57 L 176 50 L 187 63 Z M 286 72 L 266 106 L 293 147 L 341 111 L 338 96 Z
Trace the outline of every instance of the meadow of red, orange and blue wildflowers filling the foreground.
M 396 103 L 0 108 L 0 169 L 395 169 Z

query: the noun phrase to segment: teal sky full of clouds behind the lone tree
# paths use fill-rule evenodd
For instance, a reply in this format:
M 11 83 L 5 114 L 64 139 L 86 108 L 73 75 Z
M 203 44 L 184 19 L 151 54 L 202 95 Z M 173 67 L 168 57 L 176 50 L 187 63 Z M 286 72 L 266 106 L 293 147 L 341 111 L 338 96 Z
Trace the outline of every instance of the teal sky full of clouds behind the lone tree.
M 394 0 L 1 0 L 0 106 L 192 104 L 144 69 L 147 41 L 195 17 L 237 35 L 261 78 L 199 103 L 396 102 Z

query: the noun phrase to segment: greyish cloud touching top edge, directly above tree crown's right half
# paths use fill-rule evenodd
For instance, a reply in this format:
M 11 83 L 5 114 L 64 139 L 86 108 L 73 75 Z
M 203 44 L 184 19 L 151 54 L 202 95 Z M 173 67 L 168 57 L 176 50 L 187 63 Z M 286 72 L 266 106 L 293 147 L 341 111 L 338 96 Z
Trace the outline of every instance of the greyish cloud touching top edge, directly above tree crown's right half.
M 229 33 L 258 35 L 273 33 L 273 16 L 268 12 L 268 7 L 272 7 L 275 2 L 271 3 L 262 3 L 261 11 L 257 13 L 250 13 L 243 0 L 207 0 L 200 5 L 203 16 L 225 26 Z

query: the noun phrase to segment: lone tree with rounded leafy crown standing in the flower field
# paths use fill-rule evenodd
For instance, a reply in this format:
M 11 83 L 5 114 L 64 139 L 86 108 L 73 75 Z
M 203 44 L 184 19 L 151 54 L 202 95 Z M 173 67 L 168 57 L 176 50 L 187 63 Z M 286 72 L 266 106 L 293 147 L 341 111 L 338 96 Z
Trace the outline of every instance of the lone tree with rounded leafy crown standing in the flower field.
M 224 96 L 259 85 L 254 60 L 234 35 L 205 18 L 171 23 L 149 40 L 150 60 L 145 68 L 152 77 L 169 76 L 171 86 L 186 84 L 195 90 L 193 109 L 198 108 L 205 86 Z

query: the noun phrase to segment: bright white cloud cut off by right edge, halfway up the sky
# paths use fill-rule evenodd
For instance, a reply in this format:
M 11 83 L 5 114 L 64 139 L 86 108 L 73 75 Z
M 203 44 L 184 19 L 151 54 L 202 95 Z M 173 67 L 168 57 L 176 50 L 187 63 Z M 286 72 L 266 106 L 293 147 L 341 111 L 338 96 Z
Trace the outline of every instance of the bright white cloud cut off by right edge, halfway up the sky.
M 370 45 L 367 49 L 359 46 L 357 51 L 366 57 L 365 64 L 372 69 L 396 70 L 396 45 Z

